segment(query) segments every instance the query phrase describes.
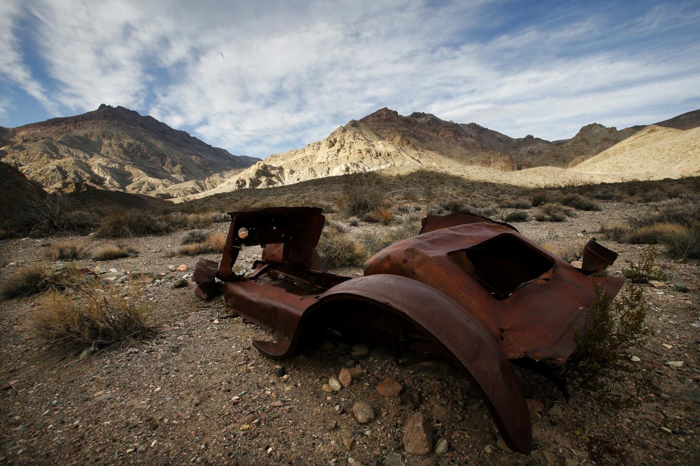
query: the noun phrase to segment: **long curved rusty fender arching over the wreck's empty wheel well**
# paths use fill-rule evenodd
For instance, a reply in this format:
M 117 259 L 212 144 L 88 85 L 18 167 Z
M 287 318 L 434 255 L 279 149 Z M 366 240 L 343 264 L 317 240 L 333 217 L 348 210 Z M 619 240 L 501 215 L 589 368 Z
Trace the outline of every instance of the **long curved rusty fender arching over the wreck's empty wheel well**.
M 293 340 L 282 340 L 274 356 L 295 350 L 303 328 L 319 314 L 334 312 L 339 302 L 372 305 L 399 316 L 442 353 L 462 367 L 466 377 L 489 409 L 506 444 L 514 451 L 532 448 L 530 414 L 516 374 L 489 333 L 449 296 L 416 280 L 398 275 L 358 277 L 334 286 L 302 314 Z M 261 351 L 274 342 L 255 342 Z M 273 356 L 268 354 L 268 356 Z

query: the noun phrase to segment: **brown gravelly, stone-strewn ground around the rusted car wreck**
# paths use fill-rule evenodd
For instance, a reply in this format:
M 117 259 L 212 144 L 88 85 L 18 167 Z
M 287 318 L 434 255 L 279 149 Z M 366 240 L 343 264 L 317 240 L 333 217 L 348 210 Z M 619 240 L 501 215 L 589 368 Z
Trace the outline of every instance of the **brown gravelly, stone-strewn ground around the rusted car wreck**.
M 595 235 L 637 207 L 605 204 L 560 224 L 517 228 L 566 247 Z M 329 216 L 342 221 L 339 214 Z M 215 227 L 225 233 L 227 225 Z M 353 233 L 377 226 L 349 227 Z M 0 303 L 0 464 L 212 465 L 694 465 L 700 461 L 700 292 L 698 261 L 663 256 L 668 275 L 645 285 L 647 325 L 635 350 L 652 394 L 614 409 L 591 393 L 570 402 L 545 379 L 519 371 L 531 407 L 534 449 L 512 453 L 468 381 L 446 361 L 399 367 L 391 353 L 329 335 L 284 361 L 262 357 L 253 339 L 269 335 L 227 313 L 221 300 L 174 288 L 197 257 L 168 258 L 183 231 L 133 238 L 141 254 L 80 265 L 153 272 L 158 332 L 150 340 L 88 355 L 48 348 L 27 326 L 41 312 L 33 298 Z M 112 244 L 71 240 L 87 249 Z M 0 280 L 43 258 L 47 240 L 0 242 Z M 642 246 L 601 240 L 625 261 Z M 258 248 L 244 250 L 251 264 Z M 218 254 L 207 255 L 218 259 Z M 176 270 L 186 265 L 186 270 Z M 358 274 L 360 269 L 339 270 Z M 163 274 L 163 275 L 161 275 Z M 688 291 L 677 291 L 683 282 Z M 157 284 L 158 283 L 158 284 Z M 123 286 L 116 279 L 109 286 Z M 85 356 L 85 354 L 83 354 Z M 624 388 L 619 388 L 624 390 Z M 622 394 L 622 393 L 621 393 Z

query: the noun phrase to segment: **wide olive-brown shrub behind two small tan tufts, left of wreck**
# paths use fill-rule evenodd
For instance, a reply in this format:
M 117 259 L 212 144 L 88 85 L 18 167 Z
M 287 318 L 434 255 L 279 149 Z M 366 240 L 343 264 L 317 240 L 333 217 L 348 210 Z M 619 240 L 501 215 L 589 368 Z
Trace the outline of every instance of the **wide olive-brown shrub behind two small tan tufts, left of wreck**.
M 95 234 L 98 238 L 127 238 L 159 235 L 172 230 L 172 217 L 141 210 L 116 210 L 104 217 Z

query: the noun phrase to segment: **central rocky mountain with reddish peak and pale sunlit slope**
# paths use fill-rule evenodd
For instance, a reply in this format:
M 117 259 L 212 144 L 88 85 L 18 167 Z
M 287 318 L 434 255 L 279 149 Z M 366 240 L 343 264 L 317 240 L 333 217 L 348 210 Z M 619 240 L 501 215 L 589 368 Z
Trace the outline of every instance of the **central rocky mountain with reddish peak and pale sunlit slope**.
M 188 198 L 200 198 L 237 189 L 283 186 L 395 167 L 444 170 L 483 167 L 498 172 L 538 166 L 564 168 L 574 159 L 598 154 L 641 127 L 617 131 L 601 124 L 589 124 L 573 138 L 551 143 L 533 136 L 510 138 L 475 123 L 446 122 L 428 113 L 414 112 L 405 117 L 382 108 L 339 126 L 316 143 L 268 156 L 214 188 L 200 193 L 180 192 Z M 190 187 L 188 191 L 194 189 L 196 187 Z M 165 191 L 155 194 L 161 192 Z

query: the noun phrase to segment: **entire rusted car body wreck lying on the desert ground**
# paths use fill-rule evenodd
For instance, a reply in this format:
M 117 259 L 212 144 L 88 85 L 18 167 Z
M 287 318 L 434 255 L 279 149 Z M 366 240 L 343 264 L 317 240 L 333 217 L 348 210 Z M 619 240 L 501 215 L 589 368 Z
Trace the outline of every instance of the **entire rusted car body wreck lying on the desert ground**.
M 622 286 L 620 278 L 593 276 L 617 259 L 595 240 L 574 268 L 513 226 L 473 214 L 428 215 L 419 235 L 375 254 L 355 278 L 328 273 L 318 256 L 320 209 L 230 215 L 221 263 L 200 259 L 196 292 L 208 299 L 223 289 L 233 312 L 274 333 L 254 342 L 262 354 L 283 358 L 335 328 L 445 356 L 463 368 L 506 444 L 521 453 L 531 450 L 530 416 L 510 362 L 563 364 L 596 284 L 612 296 Z M 253 245 L 262 246 L 261 259 L 235 273 L 241 247 Z

